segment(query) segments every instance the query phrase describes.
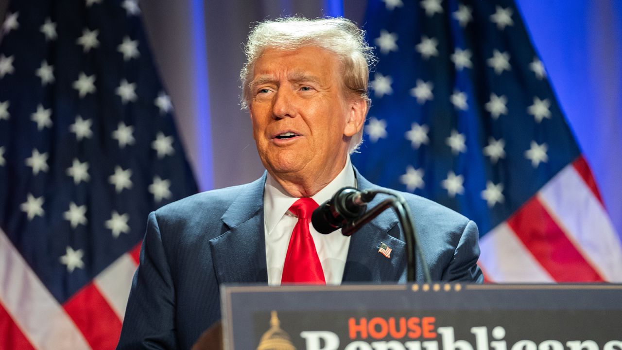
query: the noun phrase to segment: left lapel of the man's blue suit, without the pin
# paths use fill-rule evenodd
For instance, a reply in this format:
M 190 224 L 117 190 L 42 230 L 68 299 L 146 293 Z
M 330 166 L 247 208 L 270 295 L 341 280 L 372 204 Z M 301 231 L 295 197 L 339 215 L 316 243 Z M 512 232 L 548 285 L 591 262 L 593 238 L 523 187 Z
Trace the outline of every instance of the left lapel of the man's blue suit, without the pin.
M 221 217 L 229 228 L 210 240 L 218 283 L 266 282 L 263 195 L 266 174 L 243 186 Z

